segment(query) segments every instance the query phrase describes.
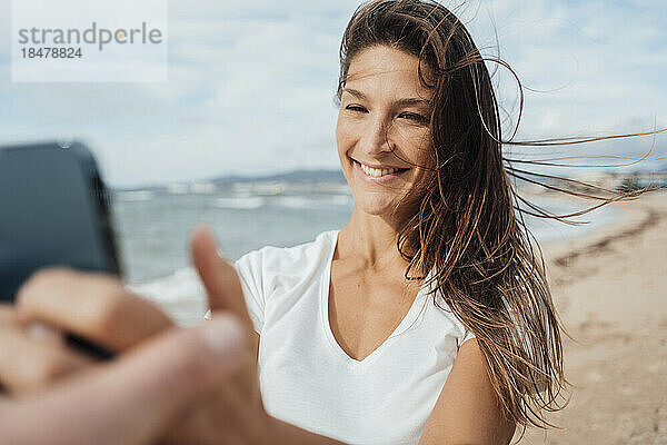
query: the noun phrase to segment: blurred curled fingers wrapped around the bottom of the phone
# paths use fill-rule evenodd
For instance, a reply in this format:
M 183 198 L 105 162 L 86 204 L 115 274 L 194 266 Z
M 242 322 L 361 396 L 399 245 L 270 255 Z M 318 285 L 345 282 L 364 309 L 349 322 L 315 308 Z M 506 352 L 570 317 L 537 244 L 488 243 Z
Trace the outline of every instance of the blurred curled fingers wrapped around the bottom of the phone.
M 41 389 L 96 362 L 68 347 L 60 332 L 111 350 L 129 347 L 173 324 L 120 280 L 66 268 L 42 269 L 19 289 L 0 328 L 0 382 L 14 395 Z

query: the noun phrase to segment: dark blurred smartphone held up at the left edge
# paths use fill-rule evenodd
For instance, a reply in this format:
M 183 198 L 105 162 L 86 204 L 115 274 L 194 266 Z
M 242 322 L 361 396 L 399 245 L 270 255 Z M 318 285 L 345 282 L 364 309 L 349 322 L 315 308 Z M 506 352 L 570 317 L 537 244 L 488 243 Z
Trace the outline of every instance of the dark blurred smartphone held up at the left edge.
M 110 194 L 83 144 L 0 147 L 0 301 L 37 269 L 67 266 L 121 276 Z M 113 354 L 73 335 L 99 358 Z

